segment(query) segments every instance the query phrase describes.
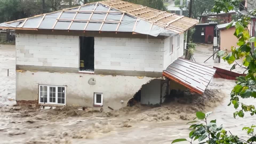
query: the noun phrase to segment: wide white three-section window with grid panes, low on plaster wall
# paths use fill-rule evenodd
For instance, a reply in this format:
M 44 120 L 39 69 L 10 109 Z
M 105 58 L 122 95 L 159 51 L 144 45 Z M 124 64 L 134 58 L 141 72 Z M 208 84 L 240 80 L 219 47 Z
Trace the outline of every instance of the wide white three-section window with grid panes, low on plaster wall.
M 66 87 L 39 85 L 39 104 L 66 105 Z

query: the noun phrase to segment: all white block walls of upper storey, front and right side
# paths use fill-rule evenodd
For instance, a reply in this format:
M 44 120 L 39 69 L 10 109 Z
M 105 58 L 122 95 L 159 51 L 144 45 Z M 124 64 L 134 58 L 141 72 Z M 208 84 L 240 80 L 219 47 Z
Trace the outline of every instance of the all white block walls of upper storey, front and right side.
M 162 72 L 183 55 L 183 34 L 180 48 L 173 37 L 173 53 L 166 39 L 94 38 L 94 68 L 105 70 Z M 79 67 L 79 36 L 16 35 L 16 64 L 33 66 Z

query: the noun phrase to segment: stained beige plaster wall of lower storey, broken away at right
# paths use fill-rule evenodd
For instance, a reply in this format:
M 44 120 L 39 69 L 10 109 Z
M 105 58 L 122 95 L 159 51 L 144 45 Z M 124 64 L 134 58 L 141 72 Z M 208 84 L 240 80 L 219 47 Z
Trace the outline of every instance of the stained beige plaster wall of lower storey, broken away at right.
M 94 81 L 89 79 L 94 79 Z M 16 100 L 38 100 L 39 84 L 56 85 L 67 86 L 67 106 L 93 107 L 94 93 L 103 93 L 103 109 L 108 110 L 108 106 L 113 109 L 119 109 L 125 107 L 129 99 L 134 96 L 141 86 L 152 79 L 154 78 L 16 71 Z M 158 91 L 158 88 L 154 87 L 155 85 L 156 84 L 154 84 L 153 87 L 151 86 L 151 91 Z M 160 89 L 160 83 L 158 87 Z M 158 96 L 160 94 L 160 92 L 155 93 L 157 93 Z M 124 103 L 121 103 L 121 100 L 123 100 Z M 152 101 L 151 103 L 154 102 Z M 96 109 L 97 108 L 98 107 L 96 107 Z

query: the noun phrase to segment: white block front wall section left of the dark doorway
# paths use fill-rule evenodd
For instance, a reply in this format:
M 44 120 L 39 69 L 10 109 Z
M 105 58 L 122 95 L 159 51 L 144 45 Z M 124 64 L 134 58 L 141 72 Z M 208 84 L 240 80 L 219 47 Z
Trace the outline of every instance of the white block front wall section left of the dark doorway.
M 16 35 L 16 64 L 79 67 L 79 36 Z

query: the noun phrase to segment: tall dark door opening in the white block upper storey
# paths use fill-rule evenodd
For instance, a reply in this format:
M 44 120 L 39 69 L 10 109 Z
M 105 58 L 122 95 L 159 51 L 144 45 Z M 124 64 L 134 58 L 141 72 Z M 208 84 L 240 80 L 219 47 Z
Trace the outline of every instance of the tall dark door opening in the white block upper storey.
M 80 38 L 80 71 L 94 71 L 94 37 Z

